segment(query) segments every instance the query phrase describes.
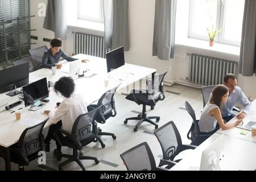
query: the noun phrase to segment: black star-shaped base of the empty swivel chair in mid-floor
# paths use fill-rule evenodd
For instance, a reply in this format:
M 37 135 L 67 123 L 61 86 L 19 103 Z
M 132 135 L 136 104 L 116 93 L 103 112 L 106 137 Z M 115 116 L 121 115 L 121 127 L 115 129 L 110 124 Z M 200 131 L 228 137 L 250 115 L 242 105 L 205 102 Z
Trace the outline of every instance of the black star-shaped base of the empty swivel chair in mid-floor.
M 123 123 L 125 123 L 125 125 L 127 124 L 128 120 L 139 120 L 139 122 L 137 123 L 137 125 L 134 127 L 134 131 L 138 131 L 138 127 L 143 123 L 143 122 L 148 122 L 151 123 L 152 125 L 155 126 L 155 130 L 158 129 L 158 125 L 156 125 L 156 123 L 152 122 L 151 119 L 156 119 L 156 122 L 159 122 L 160 117 L 158 116 L 151 116 L 151 117 L 147 117 L 146 114 L 146 105 L 143 105 L 143 110 L 142 110 L 142 114 L 139 114 L 138 117 L 131 117 L 131 118 L 126 118 L 125 121 Z

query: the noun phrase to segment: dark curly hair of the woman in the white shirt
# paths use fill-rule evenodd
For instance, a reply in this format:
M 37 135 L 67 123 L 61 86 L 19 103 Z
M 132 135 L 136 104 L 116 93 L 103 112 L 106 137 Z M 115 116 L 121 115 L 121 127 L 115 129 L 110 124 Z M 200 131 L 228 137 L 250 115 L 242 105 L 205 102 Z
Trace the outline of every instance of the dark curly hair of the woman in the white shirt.
M 56 94 L 60 93 L 61 96 L 69 98 L 75 91 L 76 84 L 71 77 L 61 77 L 54 84 L 54 90 Z

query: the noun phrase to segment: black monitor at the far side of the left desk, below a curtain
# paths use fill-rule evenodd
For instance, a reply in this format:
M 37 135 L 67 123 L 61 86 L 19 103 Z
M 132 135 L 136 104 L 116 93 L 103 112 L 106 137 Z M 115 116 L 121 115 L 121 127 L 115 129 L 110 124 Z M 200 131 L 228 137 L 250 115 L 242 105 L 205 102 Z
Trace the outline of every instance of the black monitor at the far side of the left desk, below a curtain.
M 122 65 L 125 65 L 125 55 L 123 53 L 123 47 L 119 47 L 114 49 L 113 51 L 106 53 L 106 62 L 108 72 L 112 71 L 112 69 L 117 69 Z

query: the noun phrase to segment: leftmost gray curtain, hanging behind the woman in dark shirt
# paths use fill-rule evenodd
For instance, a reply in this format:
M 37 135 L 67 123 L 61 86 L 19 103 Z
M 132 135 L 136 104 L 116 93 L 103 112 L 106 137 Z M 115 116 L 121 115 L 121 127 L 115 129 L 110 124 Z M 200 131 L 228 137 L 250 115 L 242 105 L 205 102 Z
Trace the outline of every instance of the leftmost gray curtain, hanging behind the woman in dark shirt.
M 65 0 L 48 0 L 43 27 L 55 32 L 55 38 L 67 40 Z

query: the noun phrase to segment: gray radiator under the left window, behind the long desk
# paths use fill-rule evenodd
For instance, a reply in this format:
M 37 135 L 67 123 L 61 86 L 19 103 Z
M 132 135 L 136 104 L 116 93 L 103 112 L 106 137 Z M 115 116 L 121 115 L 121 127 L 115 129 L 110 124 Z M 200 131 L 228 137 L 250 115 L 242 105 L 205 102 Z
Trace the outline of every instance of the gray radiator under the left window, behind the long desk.
M 110 49 L 104 48 L 104 37 L 97 35 L 89 35 L 80 32 L 74 32 L 74 52 L 84 53 L 86 55 L 106 57 L 106 52 Z

